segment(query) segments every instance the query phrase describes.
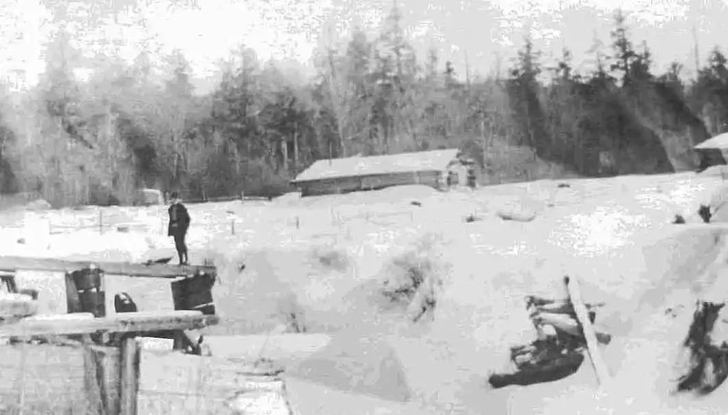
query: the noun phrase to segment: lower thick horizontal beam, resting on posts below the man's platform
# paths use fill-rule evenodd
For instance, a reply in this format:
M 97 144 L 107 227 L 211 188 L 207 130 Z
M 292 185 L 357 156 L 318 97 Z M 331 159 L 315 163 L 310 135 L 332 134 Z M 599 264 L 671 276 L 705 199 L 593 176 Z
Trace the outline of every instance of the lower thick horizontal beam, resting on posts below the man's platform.
M 111 317 L 82 320 L 28 318 L 17 323 L 0 325 L 0 338 L 6 336 L 198 330 L 208 325 L 214 325 L 217 322 L 217 316 L 203 315 L 197 311 L 129 312 Z

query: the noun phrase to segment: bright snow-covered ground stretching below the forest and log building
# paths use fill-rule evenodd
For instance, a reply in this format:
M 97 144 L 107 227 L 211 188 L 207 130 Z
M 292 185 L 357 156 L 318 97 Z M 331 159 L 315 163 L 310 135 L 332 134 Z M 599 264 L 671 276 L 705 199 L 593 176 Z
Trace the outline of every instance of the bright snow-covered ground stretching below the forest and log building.
M 579 408 L 582 414 L 607 414 L 636 413 L 632 408 L 644 406 L 645 413 L 667 414 L 656 403 L 660 392 L 652 391 L 647 380 L 657 374 L 645 369 L 634 376 L 619 368 L 629 366 L 625 361 L 637 362 L 635 356 L 645 368 L 657 367 L 659 353 L 649 347 L 681 340 L 685 325 L 674 336 L 659 322 L 654 333 L 637 335 L 633 314 L 643 293 L 669 274 L 666 267 L 675 258 L 687 255 L 684 262 L 692 264 L 693 256 L 708 255 L 695 252 L 703 245 L 689 239 L 672 245 L 664 241 L 672 237 L 679 242 L 683 236 L 675 232 L 700 227 L 670 222 L 677 213 L 698 222 L 698 205 L 710 202 L 721 186 L 717 175 L 681 173 L 535 181 L 449 193 L 405 186 L 343 196 L 301 199 L 289 194 L 273 202 L 189 205 L 190 260 L 213 260 L 218 266 L 221 282 L 213 295 L 223 323 L 213 333 L 261 333 L 296 313 L 309 332 L 386 338 L 405 368 L 414 401 L 432 413 L 575 414 Z M 499 211 L 536 217 L 503 221 L 496 216 Z M 0 214 L 0 249 L 8 255 L 99 261 L 174 256 L 166 213 L 166 207 L 156 206 Z M 480 220 L 464 221 L 469 215 Z M 24 244 L 17 243 L 21 237 Z M 656 248 L 644 250 L 651 246 Z M 379 299 L 379 284 L 389 277 L 387 264 L 408 252 L 426 258 L 443 280 L 429 323 L 410 323 L 403 310 L 387 310 Z M 596 395 L 586 363 L 562 382 L 489 390 L 488 373 L 505 365 L 508 347 L 533 339 L 523 296 L 565 296 L 565 274 L 581 277 L 587 301 L 608 304 L 598 323 L 617 336 L 605 349 L 617 385 L 606 389 L 612 398 L 604 398 L 608 392 Z M 60 276 L 20 272 L 18 277 L 20 285 L 41 289 L 44 311 L 65 312 Z M 113 310 L 110 301 L 120 291 L 130 293 L 144 310 L 172 308 L 165 280 L 109 277 L 108 309 Z M 671 295 L 665 293 L 665 301 Z M 664 344 L 649 344 L 660 336 Z M 628 357 L 614 352 L 628 345 L 636 350 Z M 624 408 L 622 401 L 634 406 Z M 723 408 L 721 413 L 728 411 L 728 403 L 711 401 L 711 406 L 712 411 L 718 411 L 716 406 Z

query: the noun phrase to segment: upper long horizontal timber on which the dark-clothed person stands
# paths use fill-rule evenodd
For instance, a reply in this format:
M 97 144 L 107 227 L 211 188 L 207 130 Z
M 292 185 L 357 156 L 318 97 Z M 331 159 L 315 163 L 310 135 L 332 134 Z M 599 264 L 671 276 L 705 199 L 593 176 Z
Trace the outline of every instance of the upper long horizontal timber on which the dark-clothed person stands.
M 25 256 L 0 256 L 0 272 L 15 272 L 17 269 L 33 269 L 47 272 L 69 272 L 95 264 L 107 275 L 128 277 L 177 278 L 192 276 L 199 272 L 217 272 L 209 265 L 132 264 L 130 262 L 70 261 L 58 258 L 33 258 Z

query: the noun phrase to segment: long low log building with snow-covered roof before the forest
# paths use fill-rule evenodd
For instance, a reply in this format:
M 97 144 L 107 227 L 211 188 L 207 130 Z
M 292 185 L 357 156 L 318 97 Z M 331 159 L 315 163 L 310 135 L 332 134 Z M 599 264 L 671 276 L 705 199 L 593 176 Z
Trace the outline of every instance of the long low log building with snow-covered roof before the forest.
M 448 173 L 460 165 L 457 149 L 323 159 L 314 162 L 291 184 L 301 190 L 303 197 L 411 184 L 446 190 Z

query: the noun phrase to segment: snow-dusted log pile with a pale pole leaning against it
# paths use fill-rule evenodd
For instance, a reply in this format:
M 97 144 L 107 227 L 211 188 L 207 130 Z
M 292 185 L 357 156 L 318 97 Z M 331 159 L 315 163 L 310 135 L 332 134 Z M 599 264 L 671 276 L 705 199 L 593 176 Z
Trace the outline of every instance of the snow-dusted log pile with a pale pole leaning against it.
M 569 299 L 544 299 L 526 296 L 526 309 L 538 339 L 530 344 L 511 347 L 510 360 L 515 371 L 493 374 L 488 379 L 491 387 L 553 382 L 576 373 L 584 362 L 584 352 L 589 352 L 600 381 L 607 379 L 604 363 L 598 355 L 597 343 L 609 344 L 612 336 L 593 330 L 596 310 L 604 303 L 582 304 L 577 301 L 576 282 L 569 284 Z

